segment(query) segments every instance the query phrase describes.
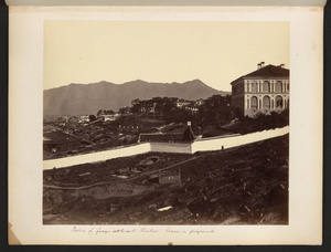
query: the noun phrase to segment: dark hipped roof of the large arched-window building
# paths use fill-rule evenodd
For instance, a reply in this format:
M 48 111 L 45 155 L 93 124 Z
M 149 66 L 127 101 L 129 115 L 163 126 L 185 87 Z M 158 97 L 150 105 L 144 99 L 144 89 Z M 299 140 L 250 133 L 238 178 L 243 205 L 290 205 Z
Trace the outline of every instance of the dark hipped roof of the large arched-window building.
M 248 73 L 246 75 L 243 75 L 235 81 L 233 81 L 231 84 L 234 84 L 235 82 L 239 81 L 241 78 L 265 78 L 265 77 L 289 77 L 289 70 L 284 69 L 281 66 L 276 65 L 266 65 L 259 70 L 256 70 L 252 73 Z

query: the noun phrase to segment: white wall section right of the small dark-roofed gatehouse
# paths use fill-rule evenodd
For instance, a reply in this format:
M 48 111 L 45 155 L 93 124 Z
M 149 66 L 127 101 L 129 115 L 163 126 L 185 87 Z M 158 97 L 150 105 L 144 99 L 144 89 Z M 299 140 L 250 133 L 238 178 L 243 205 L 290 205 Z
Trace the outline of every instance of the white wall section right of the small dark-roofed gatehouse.
M 289 133 L 289 126 L 284 128 L 269 129 L 258 133 L 252 133 L 247 135 L 232 136 L 218 139 L 201 139 L 192 144 L 192 154 L 196 151 L 206 150 L 218 150 L 224 146 L 224 148 L 231 148 L 239 145 L 246 145 L 268 138 L 274 138 L 278 136 L 284 136 Z

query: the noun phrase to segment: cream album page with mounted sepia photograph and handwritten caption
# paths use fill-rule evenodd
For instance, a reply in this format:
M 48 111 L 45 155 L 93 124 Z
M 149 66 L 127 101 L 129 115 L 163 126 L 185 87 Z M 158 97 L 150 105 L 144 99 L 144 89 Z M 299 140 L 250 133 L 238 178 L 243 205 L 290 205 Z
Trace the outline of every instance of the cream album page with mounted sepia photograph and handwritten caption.
M 12 7 L 9 244 L 322 243 L 323 7 Z

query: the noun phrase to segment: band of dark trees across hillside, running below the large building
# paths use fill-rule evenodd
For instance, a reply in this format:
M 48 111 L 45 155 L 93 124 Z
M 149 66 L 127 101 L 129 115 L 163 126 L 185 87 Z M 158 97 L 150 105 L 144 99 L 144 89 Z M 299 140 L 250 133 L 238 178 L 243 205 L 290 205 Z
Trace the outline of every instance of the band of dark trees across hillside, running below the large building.
M 250 132 L 269 129 L 275 127 L 282 127 L 289 124 L 289 112 L 276 113 L 271 112 L 270 115 L 258 114 L 256 117 L 250 118 L 243 116 L 238 108 L 233 108 L 231 104 L 231 95 L 221 96 L 213 95 L 204 101 L 199 106 L 199 109 L 192 112 L 185 109 L 185 107 L 177 106 L 178 98 L 175 97 L 153 97 L 148 101 L 134 99 L 131 106 L 126 106 L 119 109 L 120 114 L 131 113 L 132 118 L 119 117 L 116 122 L 122 123 L 125 120 L 135 119 L 138 116 L 159 118 L 163 123 L 186 123 L 191 122 L 192 126 L 200 127 L 202 130 L 209 126 L 223 127 L 228 125 L 233 119 L 239 118 L 233 126 L 226 126 L 228 130 L 247 134 Z M 141 109 L 145 107 L 145 109 Z M 152 109 L 149 109 L 151 108 Z M 115 114 L 114 111 L 100 109 L 97 115 L 102 114 Z M 94 115 L 89 116 L 89 120 L 94 122 L 97 117 Z M 122 122 L 121 122 L 122 120 Z

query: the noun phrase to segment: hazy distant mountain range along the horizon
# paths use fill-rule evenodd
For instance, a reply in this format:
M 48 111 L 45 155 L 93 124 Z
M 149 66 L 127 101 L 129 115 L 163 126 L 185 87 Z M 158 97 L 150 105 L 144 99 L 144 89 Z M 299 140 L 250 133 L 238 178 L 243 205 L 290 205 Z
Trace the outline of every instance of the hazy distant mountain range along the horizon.
M 98 82 L 92 84 L 70 84 L 44 91 L 44 115 L 89 115 L 99 109 L 129 106 L 135 98 L 179 97 L 185 99 L 207 98 L 229 92 L 214 90 L 200 80 L 184 83 L 149 83 L 141 80 L 114 84 Z

